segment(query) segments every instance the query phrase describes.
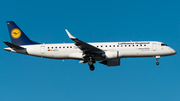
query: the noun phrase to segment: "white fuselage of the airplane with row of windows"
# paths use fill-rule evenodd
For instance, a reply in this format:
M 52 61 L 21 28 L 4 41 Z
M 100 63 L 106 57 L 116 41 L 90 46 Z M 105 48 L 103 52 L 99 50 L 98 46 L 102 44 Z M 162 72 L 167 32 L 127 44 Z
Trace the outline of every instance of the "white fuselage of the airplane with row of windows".
M 158 41 L 103 42 L 88 44 L 102 49 L 105 52 L 105 55 L 108 56 L 106 59 L 155 57 L 176 54 L 174 49 Z M 23 45 L 21 47 L 26 48 L 26 50 L 13 50 L 9 47 L 5 48 L 5 50 L 52 59 L 83 59 L 83 51 L 74 45 L 74 43 Z M 108 55 L 108 52 L 117 52 L 117 57 L 113 56 L 114 54 Z M 95 60 L 101 61 L 104 59 L 95 57 Z

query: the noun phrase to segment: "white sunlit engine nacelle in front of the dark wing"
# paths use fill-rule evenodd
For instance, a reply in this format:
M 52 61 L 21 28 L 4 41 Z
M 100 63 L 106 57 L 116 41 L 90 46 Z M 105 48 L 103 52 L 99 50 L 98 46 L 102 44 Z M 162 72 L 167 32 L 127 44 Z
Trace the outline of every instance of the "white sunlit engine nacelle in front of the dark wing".
M 119 56 L 119 51 L 105 51 L 106 59 L 117 59 Z

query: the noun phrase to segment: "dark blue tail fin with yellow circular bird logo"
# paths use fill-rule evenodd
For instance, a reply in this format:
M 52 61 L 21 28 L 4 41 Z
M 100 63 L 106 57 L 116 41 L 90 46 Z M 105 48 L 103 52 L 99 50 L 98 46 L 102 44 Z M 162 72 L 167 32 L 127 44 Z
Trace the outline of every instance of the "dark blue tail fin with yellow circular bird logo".
M 37 42 L 30 40 L 13 21 L 7 21 L 7 26 L 13 44 L 16 45 L 39 44 Z

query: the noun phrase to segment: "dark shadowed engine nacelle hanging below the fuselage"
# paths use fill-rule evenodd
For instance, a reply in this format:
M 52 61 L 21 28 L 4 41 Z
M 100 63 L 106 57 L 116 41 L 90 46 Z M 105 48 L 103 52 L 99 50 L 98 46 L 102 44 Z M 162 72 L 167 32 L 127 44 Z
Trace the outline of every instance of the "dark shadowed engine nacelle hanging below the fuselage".
M 119 66 L 120 65 L 120 59 L 104 60 L 100 63 L 107 65 L 107 66 Z

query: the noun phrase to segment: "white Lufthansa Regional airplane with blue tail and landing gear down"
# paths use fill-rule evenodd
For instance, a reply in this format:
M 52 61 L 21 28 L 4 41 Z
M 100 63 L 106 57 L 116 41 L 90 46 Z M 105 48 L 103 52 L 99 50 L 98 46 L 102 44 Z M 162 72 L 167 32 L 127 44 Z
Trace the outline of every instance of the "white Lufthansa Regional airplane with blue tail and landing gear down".
M 107 66 L 119 66 L 121 58 L 155 57 L 156 65 L 159 65 L 160 57 L 177 53 L 159 41 L 86 43 L 72 36 L 67 29 L 67 35 L 74 43 L 41 44 L 30 40 L 13 21 L 7 21 L 7 26 L 12 43 L 3 41 L 9 46 L 4 50 L 42 58 L 75 59 L 79 63 L 88 63 L 91 71 L 95 69 L 93 64 L 96 61 Z

